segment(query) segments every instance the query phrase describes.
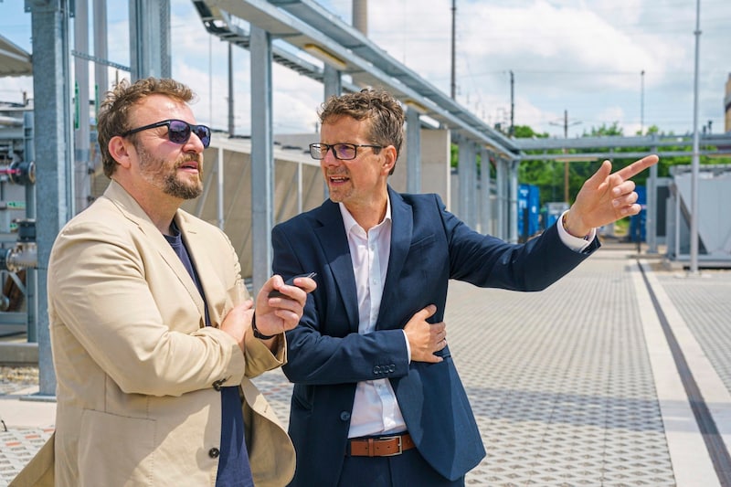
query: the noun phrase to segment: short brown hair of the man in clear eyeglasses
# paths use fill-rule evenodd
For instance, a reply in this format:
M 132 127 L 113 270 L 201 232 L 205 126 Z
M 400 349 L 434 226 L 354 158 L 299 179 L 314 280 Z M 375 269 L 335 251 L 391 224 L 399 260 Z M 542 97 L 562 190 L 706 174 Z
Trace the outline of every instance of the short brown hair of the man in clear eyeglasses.
M 365 88 L 357 93 L 332 96 L 320 107 L 319 115 L 323 123 L 342 115 L 357 121 L 368 120 L 370 142 L 384 147 L 393 145 L 398 159 L 404 143 L 404 109 L 386 90 Z

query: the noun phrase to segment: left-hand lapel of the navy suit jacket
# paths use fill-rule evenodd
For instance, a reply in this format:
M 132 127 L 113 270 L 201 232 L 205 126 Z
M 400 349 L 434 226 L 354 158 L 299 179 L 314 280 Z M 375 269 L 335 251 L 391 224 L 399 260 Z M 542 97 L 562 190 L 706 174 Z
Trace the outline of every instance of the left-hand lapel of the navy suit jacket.
M 336 287 L 343 297 L 343 306 L 348 323 L 352 330 L 357 331 L 358 298 L 355 292 L 353 259 L 350 257 L 340 206 L 328 199 L 320 206 L 317 218 L 322 227 L 315 228 L 314 234 L 320 241 Z

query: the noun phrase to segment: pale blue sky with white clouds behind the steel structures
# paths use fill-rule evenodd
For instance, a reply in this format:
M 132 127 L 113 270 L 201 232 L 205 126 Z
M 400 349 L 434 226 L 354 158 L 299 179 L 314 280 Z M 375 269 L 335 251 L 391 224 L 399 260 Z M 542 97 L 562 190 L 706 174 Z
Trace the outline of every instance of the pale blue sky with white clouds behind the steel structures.
M 191 1 L 170 3 L 173 77 L 196 91 L 197 121 L 226 130 L 228 46 L 207 34 Z M 351 23 L 352 0 L 319 3 Z M 31 15 L 24 4 L 0 0 L 0 34 L 30 51 Z M 563 137 L 565 125 L 568 137 L 614 123 L 625 135 L 653 125 L 665 133 L 694 131 L 693 0 L 454 5 L 456 99 L 484 122 L 509 124 L 513 104 L 516 125 L 552 137 Z M 109 10 L 109 60 L 129 66 L 126 4 Z M 367 12 L 368 37 L 450 95 L 452 0 L 369 0 Z M 731 74 L 731 1 L 701 0 L 700 31 L 698 126 L 720 133 Z M 248 135 L 249 52 L 234 48 L 233 65 L 235 131 Z M 128 73 L 110 69 L 110 79 L 116 76 Z M 322 85 L 277 65 L 272 77 L 274 131 L 314 132 Z M 32 97 L 32 79 L 0 79 L 0 101 L 22 101 L 24 90 Z

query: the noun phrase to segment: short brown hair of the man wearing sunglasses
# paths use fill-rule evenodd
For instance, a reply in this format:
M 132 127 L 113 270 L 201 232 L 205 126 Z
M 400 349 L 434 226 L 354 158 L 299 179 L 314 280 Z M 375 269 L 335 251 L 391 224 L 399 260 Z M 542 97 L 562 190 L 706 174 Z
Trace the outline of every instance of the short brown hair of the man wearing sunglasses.
M 117 162 L 109 154 L 109 141 L 134 127 L 129 126 L 130 109 L 150 95 L 164 95 L 188 102 L 195 98 L 193 90 L 175 79 L 145 78 L 130 83 L 127 79 L 107 91 L 97 117 L 97 140 L 101 151 L 101 163 L 108 177 L 117 169 Z M 134 135 L 132 134 L 131 137 Z

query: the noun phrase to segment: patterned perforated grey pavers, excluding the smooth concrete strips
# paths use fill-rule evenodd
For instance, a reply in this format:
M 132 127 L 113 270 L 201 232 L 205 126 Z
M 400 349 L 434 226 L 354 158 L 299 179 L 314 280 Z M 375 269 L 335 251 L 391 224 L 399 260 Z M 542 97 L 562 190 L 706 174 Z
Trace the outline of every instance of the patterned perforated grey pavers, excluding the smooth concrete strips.
M 450 351 L 487 451 L 467 485 L 675 485 L 630 252 L 601 249 L 541 292 L 450 282 Z M 653 274 L 731 390 L 731 271 Z M 286 377 L 255 383 L 286 426 Z M 52 431 L 0 433 L 0 486 Z

